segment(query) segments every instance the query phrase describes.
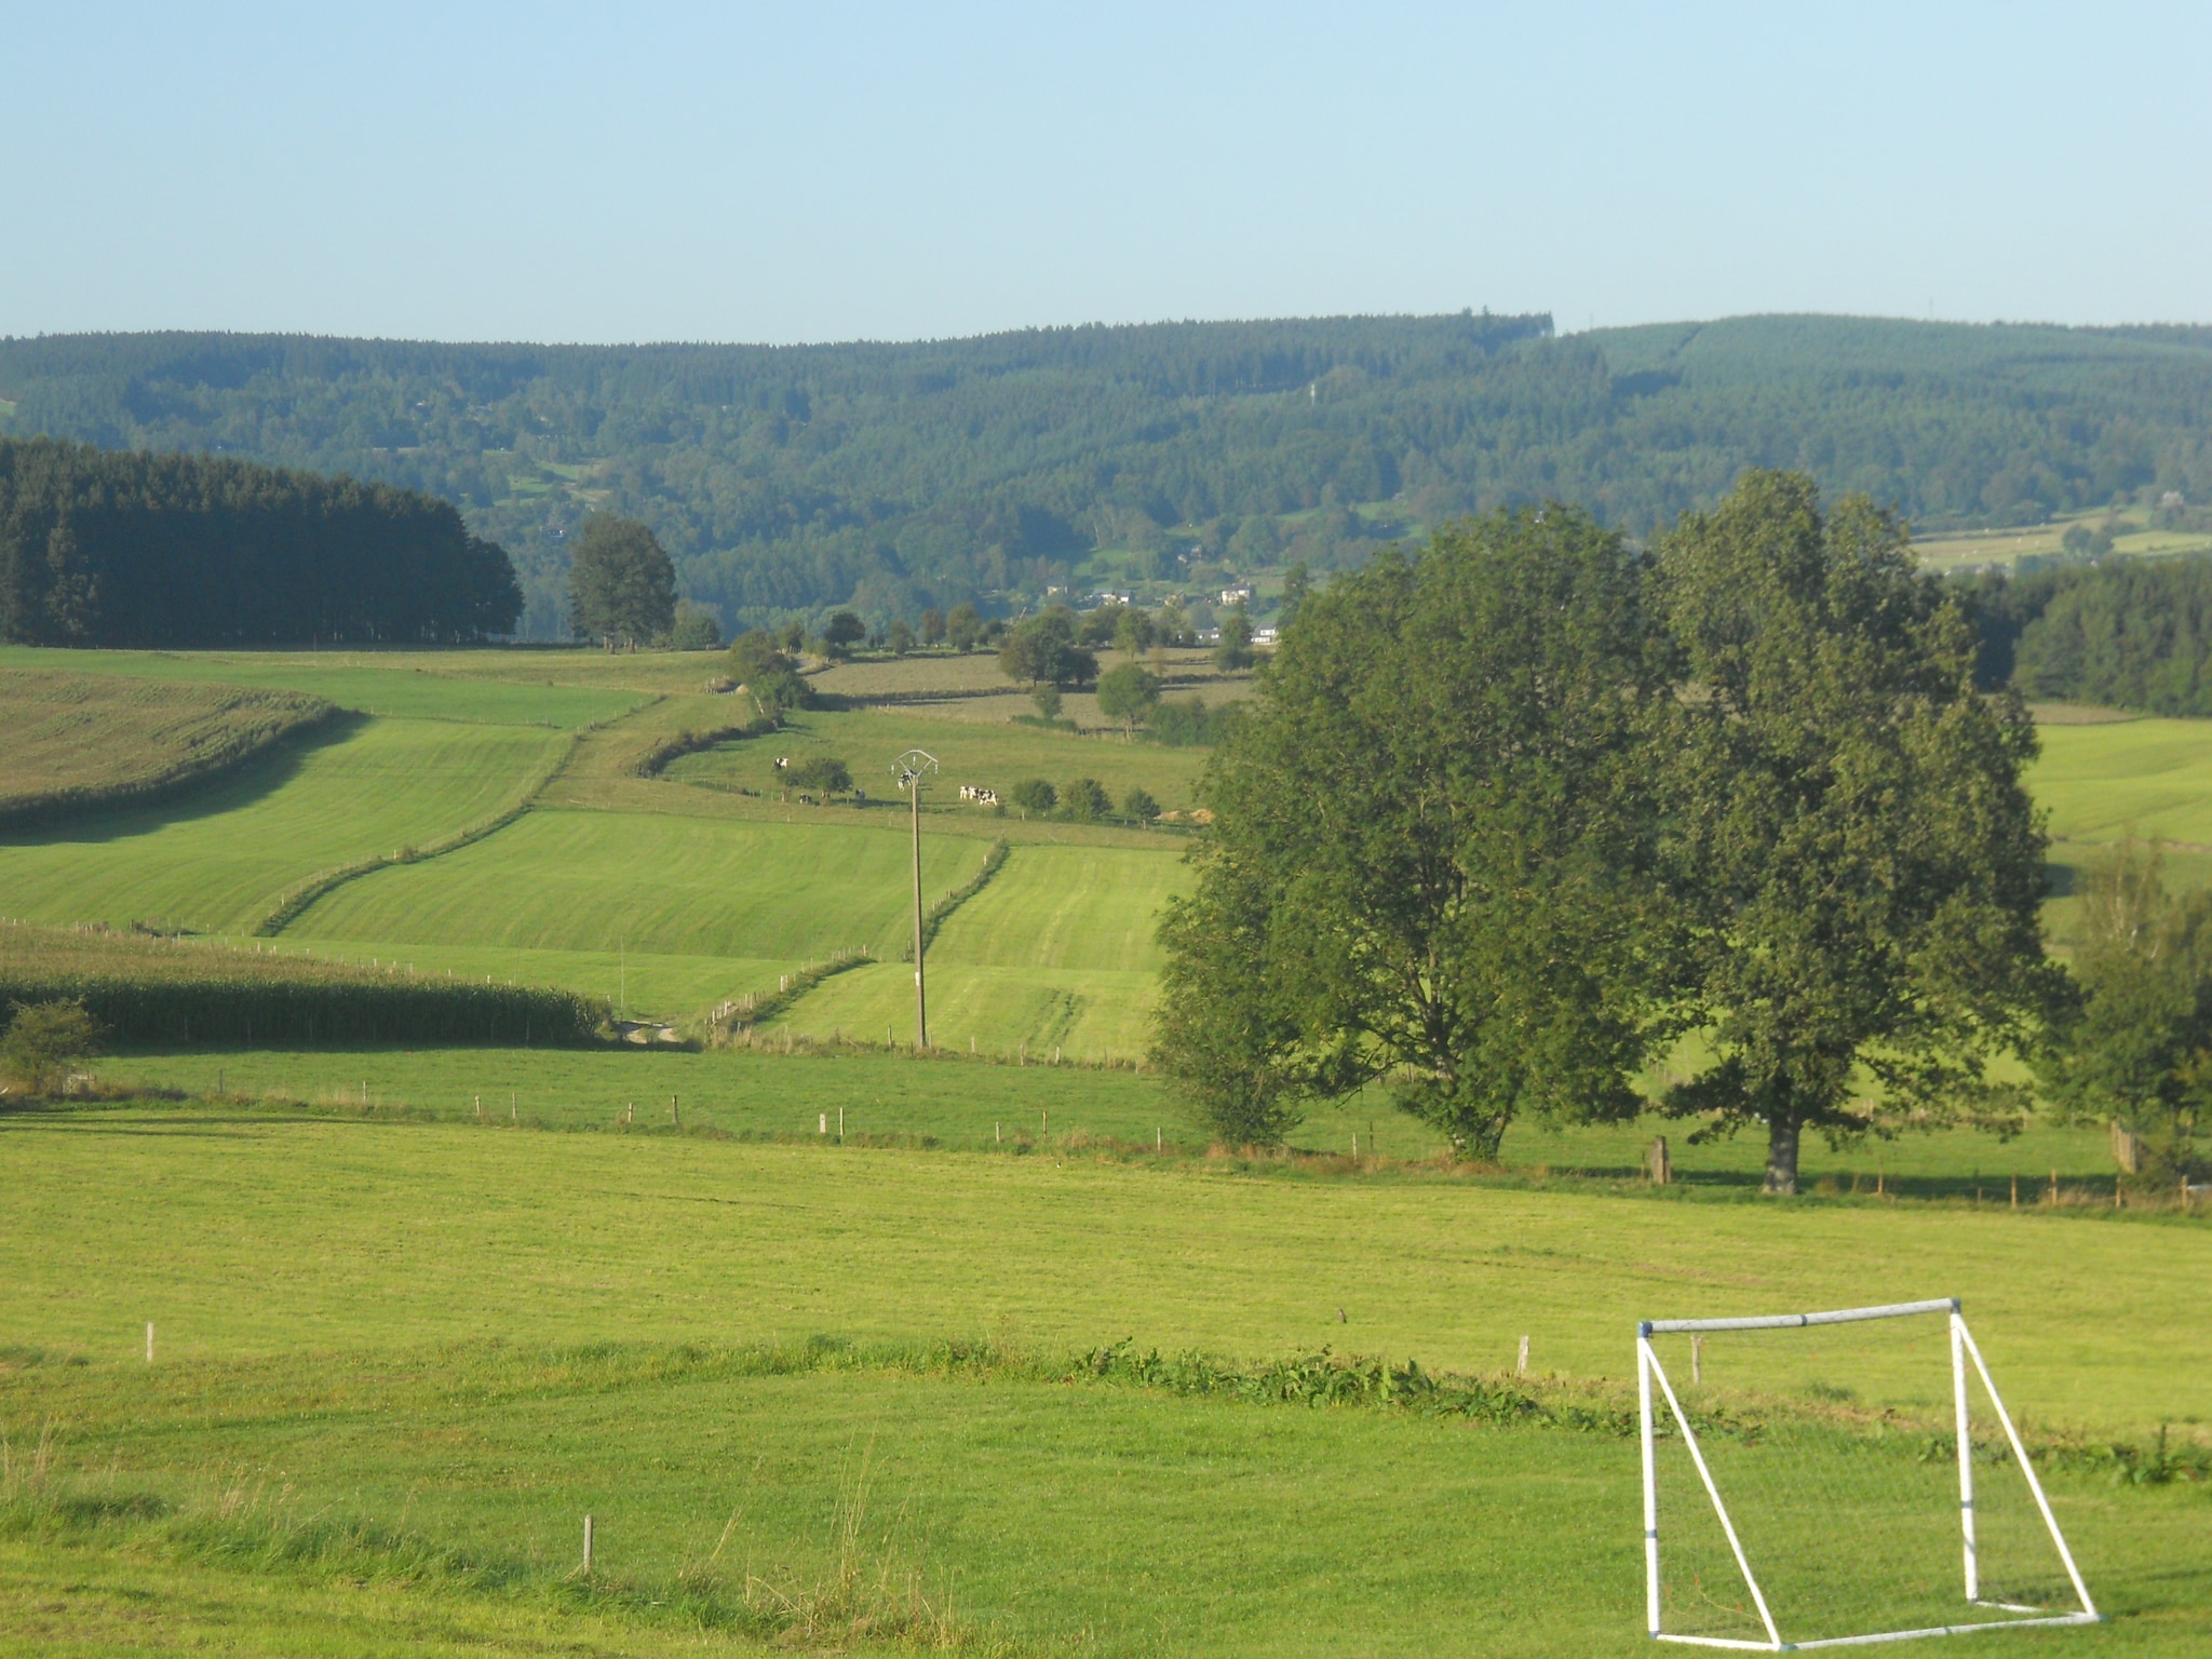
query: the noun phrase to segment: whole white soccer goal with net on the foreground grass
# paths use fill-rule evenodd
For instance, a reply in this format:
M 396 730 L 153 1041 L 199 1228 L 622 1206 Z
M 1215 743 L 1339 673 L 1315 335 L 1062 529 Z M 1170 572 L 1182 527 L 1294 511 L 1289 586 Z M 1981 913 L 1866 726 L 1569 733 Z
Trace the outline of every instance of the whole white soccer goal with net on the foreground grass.
M 2097 1621 L 1955 1298 L 1644 1321 L 1637 1394 L 1661 1641 L 1794 1652 Z

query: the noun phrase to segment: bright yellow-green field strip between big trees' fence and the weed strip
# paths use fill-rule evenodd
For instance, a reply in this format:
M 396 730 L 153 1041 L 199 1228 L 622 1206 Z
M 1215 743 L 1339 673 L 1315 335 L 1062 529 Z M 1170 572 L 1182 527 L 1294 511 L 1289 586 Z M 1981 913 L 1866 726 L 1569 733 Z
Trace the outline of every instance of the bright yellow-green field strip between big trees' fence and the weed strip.
M 148 1318 L 175 1358 L 1011 1329 L 1495 1371 L 1526 1334 L 1537 1369 L 1626 1385 L 1637 1318 L 1958 1294 L 2037 1425 L 2212 1420 L 2212 1228 L 2179 1219 L 254 1110 L 18 1113 L 0 1141 L 0 1343 L 93 1358 Z

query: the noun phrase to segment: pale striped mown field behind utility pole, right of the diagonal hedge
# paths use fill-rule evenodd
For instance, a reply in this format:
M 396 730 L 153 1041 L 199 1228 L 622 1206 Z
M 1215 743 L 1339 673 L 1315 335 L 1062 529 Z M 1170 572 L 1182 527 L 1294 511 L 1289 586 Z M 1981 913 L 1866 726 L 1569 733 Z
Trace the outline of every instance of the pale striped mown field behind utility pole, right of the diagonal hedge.
M 1135 1060 L 1150 1042 L 1159 907 L 1186 885 L 1175 852 L 1013 847 L 929 951 L 929 1037 L 991 1055 Z M 768 1029 L 914 1031 L 905 967 L 841 973 Z

